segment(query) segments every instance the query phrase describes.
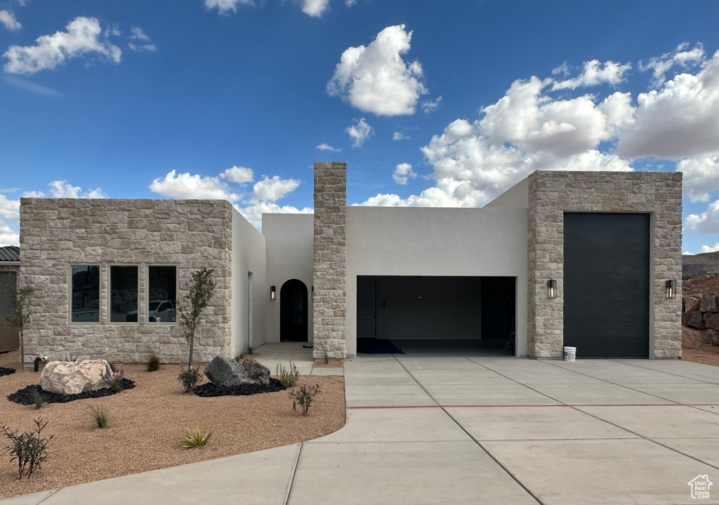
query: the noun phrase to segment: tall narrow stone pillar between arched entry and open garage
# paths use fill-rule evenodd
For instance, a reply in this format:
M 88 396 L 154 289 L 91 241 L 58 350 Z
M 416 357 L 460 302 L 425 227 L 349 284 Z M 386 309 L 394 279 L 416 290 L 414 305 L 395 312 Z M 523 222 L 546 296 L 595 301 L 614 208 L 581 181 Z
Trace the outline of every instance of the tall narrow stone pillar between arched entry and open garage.
M 314 164 L 314 348 L 315 359 L 347 356 L 347 163 Z

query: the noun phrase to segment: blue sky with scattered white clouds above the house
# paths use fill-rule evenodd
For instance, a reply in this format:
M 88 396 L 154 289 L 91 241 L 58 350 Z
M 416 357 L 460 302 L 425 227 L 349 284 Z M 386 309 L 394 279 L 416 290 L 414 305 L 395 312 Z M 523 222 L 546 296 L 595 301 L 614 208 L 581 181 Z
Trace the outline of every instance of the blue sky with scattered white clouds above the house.
M 482 206 L 533 170 L 682 170 L 719 250 L 719 3 L 0 0 L 0 245 L 21 196 Z

